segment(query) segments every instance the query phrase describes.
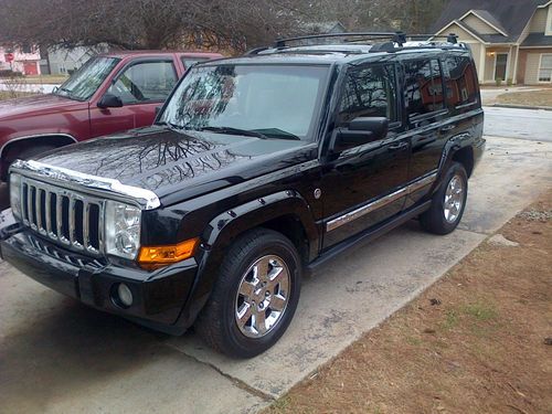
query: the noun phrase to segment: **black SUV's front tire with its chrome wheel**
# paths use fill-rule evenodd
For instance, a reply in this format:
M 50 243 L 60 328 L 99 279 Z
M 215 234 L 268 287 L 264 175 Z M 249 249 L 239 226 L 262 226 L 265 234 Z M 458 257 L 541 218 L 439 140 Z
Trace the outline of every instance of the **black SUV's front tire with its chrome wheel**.
M 272 230 L 250 231 L 226 252 L 195 330 L 209 346 L 230 357 L 258 355 L 289 326 L 300 284 L 301 261 L 294 244 Z

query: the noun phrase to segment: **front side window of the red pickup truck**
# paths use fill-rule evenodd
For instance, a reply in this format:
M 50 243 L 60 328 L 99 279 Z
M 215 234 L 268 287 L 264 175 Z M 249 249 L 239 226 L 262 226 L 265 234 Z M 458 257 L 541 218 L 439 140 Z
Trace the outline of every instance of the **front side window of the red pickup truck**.
M 176 83 L 172 61 L 142 62 L 127 67 L 107 92 L 118 96 L 124 104 L 161 102 Z

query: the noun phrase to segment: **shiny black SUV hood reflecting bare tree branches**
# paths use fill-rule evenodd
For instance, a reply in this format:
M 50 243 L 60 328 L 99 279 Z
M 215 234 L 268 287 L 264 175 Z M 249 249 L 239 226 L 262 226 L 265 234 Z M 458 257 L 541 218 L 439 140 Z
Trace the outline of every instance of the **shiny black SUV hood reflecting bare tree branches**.
M 306 160 L 308 142 L 152 126 L 74 144 L 34 159 L 183 199 Z M 311 147 L 311 146 L 309 146 Z M 290 155 L 300 152 L 302 155 Z

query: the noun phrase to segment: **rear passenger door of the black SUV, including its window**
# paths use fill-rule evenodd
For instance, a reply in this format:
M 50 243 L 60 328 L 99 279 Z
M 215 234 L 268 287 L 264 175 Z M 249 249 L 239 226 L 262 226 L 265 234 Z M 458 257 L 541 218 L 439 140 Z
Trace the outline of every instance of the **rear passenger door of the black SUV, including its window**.
M 445 124 L 449 112 L 445 105 L 444 81 L 437 56 L 403 62 L 404 102 L 412 155 L 408 168 L 410 188 L 405 208 L 423 198 L 434 182 L 443 148 L 453 124 Z

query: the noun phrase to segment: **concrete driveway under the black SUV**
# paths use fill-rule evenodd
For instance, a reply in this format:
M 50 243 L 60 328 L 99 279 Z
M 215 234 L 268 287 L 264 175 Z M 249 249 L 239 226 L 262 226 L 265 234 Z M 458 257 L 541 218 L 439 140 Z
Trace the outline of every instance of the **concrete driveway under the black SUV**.
M 294 322 L 247 361 L 88 309 L 0 263 L 0 412 L 256 412 L 438 279 L 552 187 L 552 144 L 488 137 L 460 229 L 411 222 L 305 280 Z

